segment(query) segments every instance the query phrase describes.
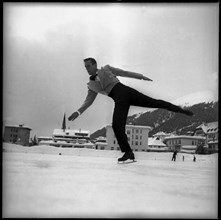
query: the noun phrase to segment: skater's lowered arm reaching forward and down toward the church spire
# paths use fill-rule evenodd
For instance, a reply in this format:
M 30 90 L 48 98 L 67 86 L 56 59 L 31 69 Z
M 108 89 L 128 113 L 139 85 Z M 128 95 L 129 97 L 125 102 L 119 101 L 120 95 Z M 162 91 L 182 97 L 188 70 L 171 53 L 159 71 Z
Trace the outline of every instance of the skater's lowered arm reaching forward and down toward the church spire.
M 72 113 L 69 117 L 69 121 L 74 121 L 79 115 L 81 115 L 88 107 L 92 105 L 94 102 L 95 98 L 97 97 L 97 93 L 88 89 L 88 94 L 87 97 L 83 103 L 83 105 L 74 113 Z

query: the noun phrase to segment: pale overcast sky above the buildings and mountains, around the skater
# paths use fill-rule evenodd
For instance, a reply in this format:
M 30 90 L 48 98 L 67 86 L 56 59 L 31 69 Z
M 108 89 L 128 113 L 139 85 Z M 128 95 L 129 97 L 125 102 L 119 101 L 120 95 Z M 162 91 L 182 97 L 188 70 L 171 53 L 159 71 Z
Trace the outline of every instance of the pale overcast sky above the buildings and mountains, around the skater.
M 218 93 L 218 3 L 4 3 L 3 120 L 51 136 L 83 103 L 95 57 L 153 82 L 120 78 L 154 98 Z M 114 103 L 98 95 L 72 129 L 110 124 Z M 131 107 L 129 115 L 147 109 Z

